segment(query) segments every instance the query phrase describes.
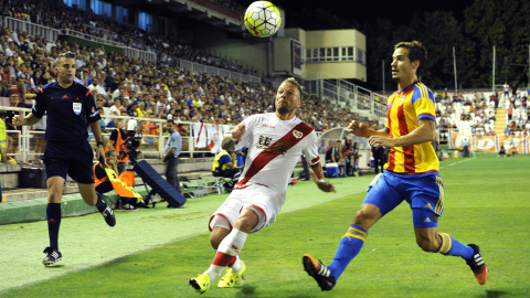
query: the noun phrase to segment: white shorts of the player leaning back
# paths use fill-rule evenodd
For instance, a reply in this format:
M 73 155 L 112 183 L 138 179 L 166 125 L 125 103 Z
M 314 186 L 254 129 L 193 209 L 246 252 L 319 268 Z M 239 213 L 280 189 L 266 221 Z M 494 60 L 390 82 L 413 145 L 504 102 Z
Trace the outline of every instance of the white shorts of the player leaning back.
M 214 226 L 232 230 L 241 212 L 252 209 L 258 215 L 258 222 L 251 231 L 255 233 L 276 222 L 276 215 L 284 203 L 285 194 L 278 194 L 267 187 L 252 184 L 244 189 L 234 189 L 210 219 L 210 231 Z

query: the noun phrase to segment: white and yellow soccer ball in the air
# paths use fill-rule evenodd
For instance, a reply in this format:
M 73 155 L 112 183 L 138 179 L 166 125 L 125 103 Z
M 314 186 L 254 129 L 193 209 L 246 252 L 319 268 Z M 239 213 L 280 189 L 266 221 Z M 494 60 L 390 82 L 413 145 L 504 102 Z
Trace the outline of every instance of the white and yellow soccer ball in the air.
M 268 1 L 256 1 L 246 9 L 244 21 L 252 35 L 268 38 L 278 31 L 282 14 L 275 4 Z

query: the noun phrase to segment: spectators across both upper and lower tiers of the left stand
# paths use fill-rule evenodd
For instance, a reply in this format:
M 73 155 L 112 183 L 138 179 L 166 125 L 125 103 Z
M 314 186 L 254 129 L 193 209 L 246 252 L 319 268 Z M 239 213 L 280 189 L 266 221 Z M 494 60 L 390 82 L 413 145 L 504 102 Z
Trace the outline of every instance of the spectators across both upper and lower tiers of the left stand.
M 3 15 L 55 29 L 68 28 L 91 34 L 99 32 L 99 36 L 121 39 L 117 41 L 139 49 L 158 49 L 160 43 L 166 42 L 160 36 L 140 32 L 138 29 L 128 31 L 107 18 L 81 13 L 72 8 L 55 11 L 30 0 L 18 1 L 17 6 L 0 1 L 0 7 Z M 88 29 L 82 25 L 91 22 L 94 23 L 94 32 L 88 32 Z M 97 28 L 104 30 L 97 31 Z M 112 32 L 110 28 L 116 29 L 113 34 L 102 33 Z M 208 58 L 205 61 L 204 56 L 197 54 L 200 50 L 178 44 L 169 46 L 179 47 L 189 51 L 168 52 L 171 58 L 208 62 Z M 40 87 L 55 79 L 53 70 L 57 55 L 68 51 L 76 54 L 75 81 L 91 89 L 98 108 L 114 115 L 236 125 L 252 114 L 274 110 L 276 86 L 242 83 L 192 73 L 166 63 L 128 58 L 107 53 L 103 46 L 92 49 L 61 41 L 46 41 L 43 36 L 29 35 L 20 29 L 11 31 L 6 26 L 0 26 L 0 97 L 17 93 L 21 104 L 34 98 Z M 241 71 L 237 67 L 232 70 Z M 298 116 L 319 131 L 338 126 L 346 127 L 348 119 L 352 117 L 343 109 L 322 103 L 320 98 L 306 95 L 304 100 Z M 113 121 L 107 128 L 112 126 Z

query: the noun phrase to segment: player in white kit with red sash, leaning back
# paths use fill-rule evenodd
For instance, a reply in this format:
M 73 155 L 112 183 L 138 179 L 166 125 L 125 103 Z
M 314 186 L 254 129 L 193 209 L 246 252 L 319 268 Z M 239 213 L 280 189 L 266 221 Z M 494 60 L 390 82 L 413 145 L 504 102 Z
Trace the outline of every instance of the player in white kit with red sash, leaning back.
M 230 138 L 237 148 L 248 146 L 248 155 L 240 181 L 210 220 L 210 243 L 216 254 L 210 268 L 190 280 L 198 292 L 204 292 L 225 267 L 230 268 L 218 287 L 233 287 L 241 278 L 246 266 L 239 254 L 246 237 L 275 222 L 301 152 L 317 187 L 335 191 L 324 179 L 315 130 L 295 116 L 301 92 L 295 78 L 285 79 L 276 94 L 275 113 L 253 115 L 232 129 Z

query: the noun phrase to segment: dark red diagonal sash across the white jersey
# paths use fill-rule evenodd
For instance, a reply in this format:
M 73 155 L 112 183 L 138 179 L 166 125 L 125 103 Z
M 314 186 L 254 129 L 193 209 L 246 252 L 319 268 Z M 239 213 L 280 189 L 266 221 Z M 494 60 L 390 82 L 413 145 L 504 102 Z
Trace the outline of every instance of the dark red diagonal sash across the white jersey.
M 295 130 L 301 132 L 301 136 L 295 136 Z M 258 173 L 265 166 L 267 166 L 271 160 L 275 159 L 277 156 L 286 152 L 288 149 L 295 147 L 300 140 L 303 140 L 307 135 L 312 131 L 312 127 L 306 125 L 305 123 L 299 123 L 295 126 L 289 132 L 285 134 L 282 138 L 271 145 L 267 149 L 263 150 L 248 166 L 248 170 L 245 173 L 245 177 L 237 182 L 237 187 L 242 187 L 251 180 L 256 173 Z M 298 135 L 298 134 L 297 134 Z M 288 148 L 285 148 L 285 145 L 290 145 Z

